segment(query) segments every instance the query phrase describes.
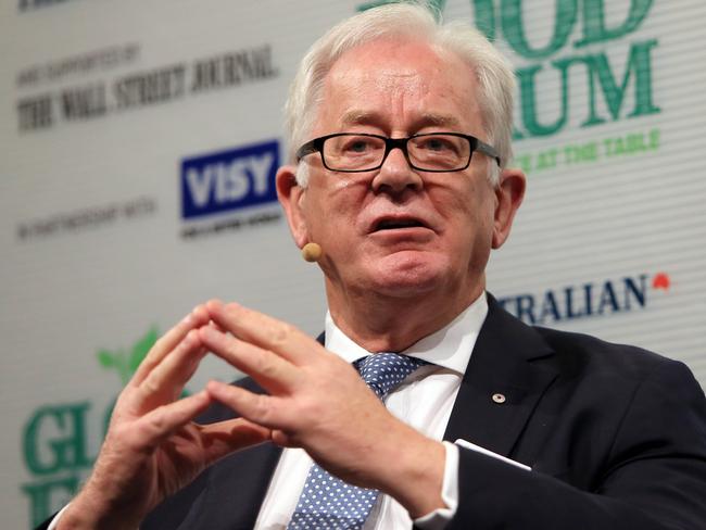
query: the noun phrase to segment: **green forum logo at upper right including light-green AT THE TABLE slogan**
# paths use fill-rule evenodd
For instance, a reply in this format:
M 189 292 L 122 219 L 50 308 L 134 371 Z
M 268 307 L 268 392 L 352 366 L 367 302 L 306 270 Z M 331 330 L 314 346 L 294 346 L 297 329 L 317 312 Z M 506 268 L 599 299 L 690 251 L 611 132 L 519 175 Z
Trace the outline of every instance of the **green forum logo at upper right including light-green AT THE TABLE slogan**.
M 395 1 L 365 2 L 358 10 Z M 439 13 L 447 3 L 429 0 Z M 569 129 L 661 112 L 653 90 L 653 55 L 659 41 L 641 35 L 654 0 L 547 0 L 540 9 L 553 18 L 542 13 L 539 24 L 531 11 L 534 3 L 540 2 L 470 0 L 478 29 L 490 40 L 504 42 L 516 55 L 515 140 L 551 138 Z M 652 127 L 553 143 L 542 151 L 518 153 L 516 163 L 531 173 L 648 153 L 659 147 L 659 132 Z

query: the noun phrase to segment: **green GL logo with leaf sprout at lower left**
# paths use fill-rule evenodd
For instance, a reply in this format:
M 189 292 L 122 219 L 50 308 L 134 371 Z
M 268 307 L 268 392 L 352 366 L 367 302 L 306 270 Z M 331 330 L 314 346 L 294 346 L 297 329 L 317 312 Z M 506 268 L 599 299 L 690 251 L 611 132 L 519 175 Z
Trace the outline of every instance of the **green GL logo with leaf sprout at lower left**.
M 157 336 L 152 327 L 129 350 L 100 350 L 98 361 L 116 370 L 125 384 Z M 29 503 L 29 528 L 47 519 L 78 490 L 96 459 L 89 441 L 102 438 L 114 404 L 111 401 L 98 417 L 96 404 L 88 399 L 40 406 L 31 413 L 22 439 L 23 462 L 31 478 L 21 485 Z

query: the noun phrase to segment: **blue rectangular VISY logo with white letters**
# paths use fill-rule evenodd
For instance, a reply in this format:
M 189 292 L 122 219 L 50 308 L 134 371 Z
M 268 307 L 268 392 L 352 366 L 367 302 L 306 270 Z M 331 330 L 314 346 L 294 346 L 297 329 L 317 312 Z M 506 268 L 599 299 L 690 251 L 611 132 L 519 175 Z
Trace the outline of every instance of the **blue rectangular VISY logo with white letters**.
M 181 161 L 185 219 L 277 201 L 279 143 L 263 143 Z

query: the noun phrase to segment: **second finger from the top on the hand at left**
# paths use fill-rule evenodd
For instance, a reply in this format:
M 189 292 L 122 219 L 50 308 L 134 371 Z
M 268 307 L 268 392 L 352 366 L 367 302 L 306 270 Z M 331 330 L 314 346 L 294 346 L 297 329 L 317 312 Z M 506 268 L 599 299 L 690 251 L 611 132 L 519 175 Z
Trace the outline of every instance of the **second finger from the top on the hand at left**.
M 199 333 L 191 330 L 137 387 L 135 406 L 153 408 L 174 401 L 184 390 L 203 358 L 205 350 Z

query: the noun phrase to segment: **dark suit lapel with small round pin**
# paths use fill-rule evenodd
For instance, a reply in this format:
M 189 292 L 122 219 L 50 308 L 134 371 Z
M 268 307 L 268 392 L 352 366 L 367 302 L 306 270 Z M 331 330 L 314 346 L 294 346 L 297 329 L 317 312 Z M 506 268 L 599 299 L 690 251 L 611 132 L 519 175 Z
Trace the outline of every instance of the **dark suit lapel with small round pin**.
M 488 317 L 461 383 L 444 440 L 461 438 L 510 456 L 557 373 L 542 362 L 552 356 L 544 340 L 502 310 L 491 295 L 488 299 Z

